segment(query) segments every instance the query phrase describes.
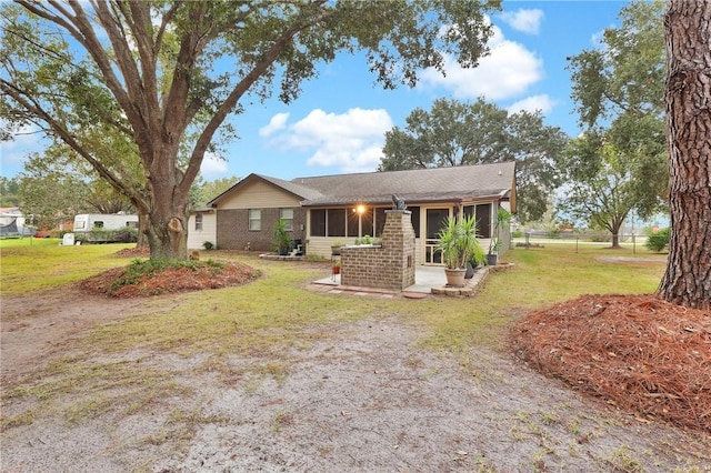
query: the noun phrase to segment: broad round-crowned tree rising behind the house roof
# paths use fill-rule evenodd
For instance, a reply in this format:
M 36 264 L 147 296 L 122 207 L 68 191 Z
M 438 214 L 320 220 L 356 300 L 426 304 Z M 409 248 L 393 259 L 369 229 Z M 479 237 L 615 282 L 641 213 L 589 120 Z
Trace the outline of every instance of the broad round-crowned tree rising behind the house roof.
M 540 112 L 510 113 L 479 98 L 438 99 L 413 110 L 405 127 L 385 133 L 380 171 L 517 162 L 518 218 L 540 219 L 560 183 L 558 162 L 568 135 L 545 125 Z

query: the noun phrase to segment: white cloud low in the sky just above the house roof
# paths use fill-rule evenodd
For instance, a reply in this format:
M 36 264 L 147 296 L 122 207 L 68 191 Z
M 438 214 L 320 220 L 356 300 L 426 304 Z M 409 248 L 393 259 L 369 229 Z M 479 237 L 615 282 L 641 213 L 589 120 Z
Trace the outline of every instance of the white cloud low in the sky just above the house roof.
M 309 165 L 338 167 L 342 172 L 373 171 L 380 163 L 384 134 L 392 120 L 382 109 L 327 113 L 314 109 L 273 138 L 283 150 L 309 152 Z

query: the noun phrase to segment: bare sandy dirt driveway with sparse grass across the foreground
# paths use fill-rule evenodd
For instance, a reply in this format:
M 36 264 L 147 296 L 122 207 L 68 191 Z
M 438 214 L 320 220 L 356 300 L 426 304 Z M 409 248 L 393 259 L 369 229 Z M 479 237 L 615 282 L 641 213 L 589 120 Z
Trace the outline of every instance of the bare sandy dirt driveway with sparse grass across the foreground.
M 3 298 L 1 309 L 3 393 L 92 326 L 148 310 L 73 289 Z M 312 343 L 273 360 L 288 360 L 288 373 L 234 382 L 193 370 L 204 355 L 123 353 L 170 371 L 190 394 L 76 424 L 37 413 L 3 429 L 0 470 L 711 472 L 708 435 L 583 400 L 505 353 L 423 350 L 421 331 L 394 315 L 311 326 Z M 3 424 L 29 402 L 3 396 Z

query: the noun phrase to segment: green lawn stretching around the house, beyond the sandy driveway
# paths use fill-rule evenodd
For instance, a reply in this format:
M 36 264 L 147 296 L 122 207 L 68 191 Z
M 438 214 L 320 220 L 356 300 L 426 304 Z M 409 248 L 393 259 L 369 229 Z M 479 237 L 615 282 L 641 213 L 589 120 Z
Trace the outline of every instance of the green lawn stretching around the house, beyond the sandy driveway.
M 46 240 L 37 240 L 32 245 L 2 246 L 2 293 L 33 292 L 128 264 L 128 259 L 118 259 L 113 253 L 130 246 L 60 246 Z M 515 249 L 505 258 L 515 264 L 514 269 L 491 274 L 474 298 L 432 296 L 411 301 L 328 296 L 306 291 L 307 282 L 328 274 L 326 266 L 307 269 L 298 263 L 262 261 L 232 252 L 208 254 L 213 259 L 240 260 L 259 266 L 264 276 L 241 288 L 183 294 L 179 296 L 182 303 L 170 313 L 129 319 L 104 329 L 104 332 L 123 332 L 127 342 L 121 342 L 122 335 L 117 333 L 104 335 L 113 338 L 117 348 L 141 340 L 150 346 L 181 346 L 188 351 L 222 346 L 220 350 L 232 351 L 236 343 L 251 345 L 244 340 L 237 341 L 248 333 L 264 330 L 299 332 L 304 326 L 329 321 L 403 315 L 405 320 L 431 329 L 427 343 L 453 349 L 471 342 L 495 343 L 501 325 L 544 304 L 580 294 L 654 292 L 664 269 L 663 255 L 639 249 L 635 254 L 599 245 L 581 245 L 578 252 L 564 245 Z M 619 256 L 632 261 L 608 260 Z M 660 262 L 649 262 L 649 259 Z M 240 336 L 232 336 L 236 332 Z

